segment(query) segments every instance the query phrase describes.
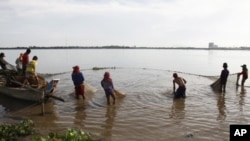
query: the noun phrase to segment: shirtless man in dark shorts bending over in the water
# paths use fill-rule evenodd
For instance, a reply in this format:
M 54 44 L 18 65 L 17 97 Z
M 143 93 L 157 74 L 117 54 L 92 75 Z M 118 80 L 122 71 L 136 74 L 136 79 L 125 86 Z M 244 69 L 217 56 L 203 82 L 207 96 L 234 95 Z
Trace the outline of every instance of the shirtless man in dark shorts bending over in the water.
M 186 97 L 186 83 L 187 81 L 179 77 L 177 73 L 173 74 L 174 80 L 173 80 L 173 90 L 174 90 L 174 98 L 185 98 Z M 175 83 L 178 84 L 178 89 L 175 91 Z

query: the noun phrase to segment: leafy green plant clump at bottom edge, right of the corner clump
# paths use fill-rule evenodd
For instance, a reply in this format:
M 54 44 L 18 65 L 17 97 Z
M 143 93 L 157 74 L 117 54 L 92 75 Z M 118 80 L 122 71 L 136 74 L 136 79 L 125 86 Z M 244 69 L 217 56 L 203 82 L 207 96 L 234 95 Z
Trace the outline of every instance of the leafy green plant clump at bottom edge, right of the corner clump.
M 82 130 L 68 129 L 64 135 L 49 133 L 47 137 L 34 136 L 33 141 L 97 141 L 90 133 L 84 133 Z

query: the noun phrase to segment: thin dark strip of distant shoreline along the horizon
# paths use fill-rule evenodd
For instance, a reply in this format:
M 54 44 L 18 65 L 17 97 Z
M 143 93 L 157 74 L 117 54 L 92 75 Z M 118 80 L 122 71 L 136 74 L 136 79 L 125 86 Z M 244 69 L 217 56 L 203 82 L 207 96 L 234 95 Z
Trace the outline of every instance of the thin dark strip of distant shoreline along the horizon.
M 127 46 L 52 46 L 52 47 L 2 47 L 2 50 L 12 49 L 180 49 L 180 50 L 250 50 L 250 47 L 217 47 L 217 48 L 197 48 L 197 47 L 127 47 Z

